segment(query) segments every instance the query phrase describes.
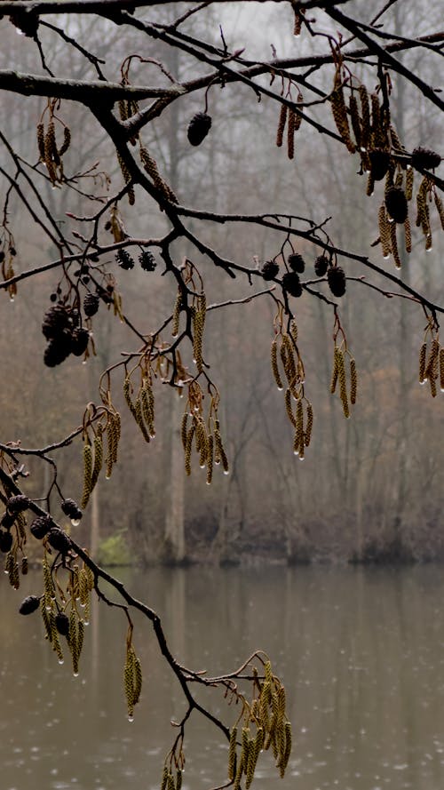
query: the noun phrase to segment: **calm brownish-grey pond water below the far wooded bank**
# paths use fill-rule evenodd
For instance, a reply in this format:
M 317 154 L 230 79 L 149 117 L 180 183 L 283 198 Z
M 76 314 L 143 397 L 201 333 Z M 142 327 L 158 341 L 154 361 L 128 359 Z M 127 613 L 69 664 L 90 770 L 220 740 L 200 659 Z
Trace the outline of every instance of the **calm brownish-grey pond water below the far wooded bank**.
M 186 666 L 231 671 L 256 649 L 274 659 L 294 746 L 285 778 L 266 753 L 253 787 L 444 787 L 444 568 L 115 575 L 158 611 Z M 136 620 L 145 682 L 129 723 L 123 614 L 94 607 L 75 678 L 44 641 L 39 613 L 17 614 L 41 591 L 37 574 L 26 582 L 15 592 L 0 579 L 1 790 L 158 788 L 184 703 L 149 626 Z M 226 705 L 218 691 L 210 704 L 216 714 Z M 236 715 L 228 709 L 227 723 Z M 190 724 L 184 787 L 209 790 L 226 778 L 226 745 L 208 723 Z

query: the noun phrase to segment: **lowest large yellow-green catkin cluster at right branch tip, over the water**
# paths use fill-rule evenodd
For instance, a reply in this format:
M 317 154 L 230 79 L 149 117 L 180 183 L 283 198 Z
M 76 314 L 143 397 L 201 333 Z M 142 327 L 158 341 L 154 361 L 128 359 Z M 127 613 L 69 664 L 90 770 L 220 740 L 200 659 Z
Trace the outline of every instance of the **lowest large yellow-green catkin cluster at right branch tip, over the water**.
M 241 786 L 245 777 L 248 788 L 254 778 L 258 756 L 271 748 L 281 777 L 285 774 L 291 753 L 291 724 L 285 711 L 285 688 L 272 673 L 269 661 L 265 665 L 263 682 L 258 682 L 258 697 L 247 706 L 238 744 L 238 727 L 230 732 L 228 747 L 228 778 L 233 790 Z

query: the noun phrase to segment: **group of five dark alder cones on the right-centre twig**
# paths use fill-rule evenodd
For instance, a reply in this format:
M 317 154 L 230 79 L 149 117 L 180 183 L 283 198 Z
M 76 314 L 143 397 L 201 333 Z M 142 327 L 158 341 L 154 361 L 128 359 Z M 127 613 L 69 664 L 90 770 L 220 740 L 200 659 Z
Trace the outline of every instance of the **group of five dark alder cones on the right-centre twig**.
M 292 252 L 286 261 L 286 271 L 282 275 L 281 286 L 290 296 L 302 296 L 302 283 L 299 275 L 305 271 L 305 260 L 299 252 Z M 279 273 L 279 263 L 275 259 L 266 260 L 261 269 L 264 280 L 274 280 Z M 332 260 L 326 255 L 319 255 L 314 261 L 314 273 L 317 277 L 325 277 L 333 296 L 340 297 L 345 294 L 345 271 L 342 267 L 333 265 Z

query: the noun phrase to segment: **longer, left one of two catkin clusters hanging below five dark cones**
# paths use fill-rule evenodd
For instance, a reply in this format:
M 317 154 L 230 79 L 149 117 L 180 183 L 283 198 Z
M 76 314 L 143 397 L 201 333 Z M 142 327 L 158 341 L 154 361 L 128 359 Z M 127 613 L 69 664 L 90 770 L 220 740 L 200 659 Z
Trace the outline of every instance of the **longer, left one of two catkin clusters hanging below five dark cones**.
M 279 360 L 286 379 L 285 410 L 295 429 L 293 451 L 303 460 L 305 448 L 312 438 L 313 406 L 304 395 L 305 371 L 297 348 L 297 325 L 294 321 L 290 325 L 289 333 L 279 332 L 272 340 L 272 371 L 278 389 L 282 390 L 284 385 Z M 296 411 L 293 402 L 296 402 Z

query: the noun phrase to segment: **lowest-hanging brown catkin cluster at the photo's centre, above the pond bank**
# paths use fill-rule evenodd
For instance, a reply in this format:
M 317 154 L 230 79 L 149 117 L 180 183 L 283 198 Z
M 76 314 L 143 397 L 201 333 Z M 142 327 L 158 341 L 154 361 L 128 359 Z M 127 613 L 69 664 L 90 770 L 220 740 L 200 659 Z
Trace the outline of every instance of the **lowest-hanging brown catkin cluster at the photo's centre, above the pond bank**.
M 210 418 L 207 423 L 203 418 L 201 400 L 199 399 L 197 406 L 194 405 L 194 402 L 194 396 L 189 398 L 180 427 L 185 453 L 185 471 L 186 475 L 191 475 L 191 457 L 194 447 L 199 456 L 199 466 L 201 469 L 207 468 L 207 484 L 210 485 L 214 465 L 221 465 L 224 473 L 228 474 L 228 458 L 220 435 L 217 411 L 210 410 Z

